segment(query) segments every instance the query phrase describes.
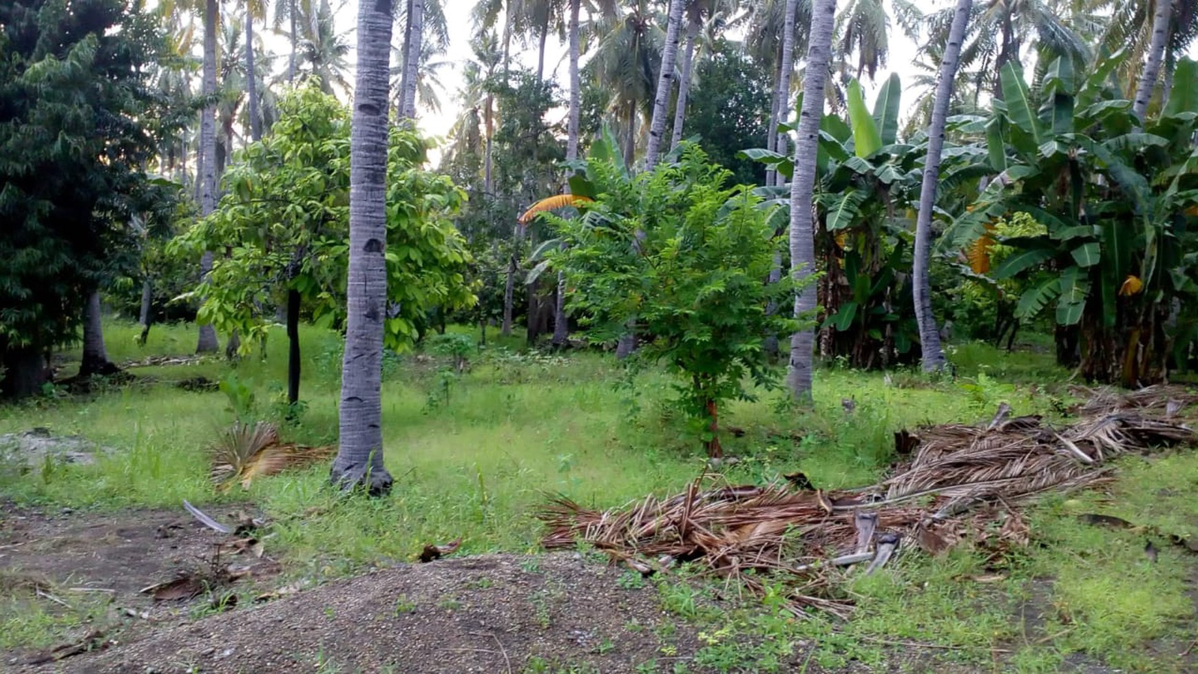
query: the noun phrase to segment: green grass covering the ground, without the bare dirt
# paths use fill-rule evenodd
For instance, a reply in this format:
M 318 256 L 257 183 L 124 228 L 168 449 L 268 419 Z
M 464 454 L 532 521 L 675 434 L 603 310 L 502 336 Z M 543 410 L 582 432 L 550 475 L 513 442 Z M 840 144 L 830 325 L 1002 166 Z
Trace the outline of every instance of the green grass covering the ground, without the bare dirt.
M 194 348 L 187 326 L 158 326 L 144 347 L 134 342 L 137 332 L 107 327 L 113 360 Z M 303 330 L 302 342 L 304 408 L 283 435 L 329 443 L 337 435 L 340 344 L 315 329 Z M 75 509 L 249 500 L 276 520 L 270 545 L 286 572 L 319 581 L 406 560 L 425 544 L 458 536 L 465 553 L 534 551 L 539 529 L 531 510 L 545 492 L 611 506 L 647 492 L 680 491 L 698 473 L 700 447 L 668 403 L 665 376 L 646 374 L 621 387 L 622 371 L 606 356 L 521 353 L 519 344 L 492 342 L 461 377 L 446 375 L 435 358 L 387 359 L 391 498 L 343 497 L 327 487 L 327 468 L 262 479 L 230 494 L 208 485 L 201 450 L 235 413 L 280 419 L 285 412 L 282 333 L 272 335 L 265 359 L 252 356 L 235 369 L 219 359 L 137 368 L 134 374 L 157 383 L 0 407 L 0 435 L 46 426 L 116 449 L 95 466 L 24 475 L 0 468 L 0 493 L 18 504 Z M 722 421 L 745 433 L 725 442 L 743 459 L 728 479 L 760 481 L 800 469 L 821 487 L 858 486 L 884 470 L 891 433 L 901 427 L 976 421 L 1004 400 L 1016 414 L 1057 414 L 1066 374 L 1052 365 L 1051 353 L 962 345 L 950 359 L 956 377 L 938 382 L 909 371 L 821 370 L 815 409 L 806 413 L 787 408 L 778 393 L 733 405 Z M 63 364 L 65 374 L 71 369 Z M 253 403 L 234 409 L 224 393 L 170 385 L 196 376 L 237 382 L 253 391 Z M 842 399 L 855 401 L 851 415 Z M 689 593 L 703 591 L 689 584 L 667 583 L 664 601 L 683 619 L 709 623 L 697 662 L 718 670 L 768 669 L 800 642 L 816 644 L 812 657 L 824 667 L 879 662 L 896 644 L 912 642 L 976 668 L 1002 661 L 1055 672 L 1091 658 L 1133 670 L 1182 670 L 1180 654 L 1196 626 L 1190 553 L 1157 541 L 1158 559 L 1150 563 L 1143 534 L 1087 527 L 1076 515 L 1106 512 L 1198 535 L 1198 457 L 1129 459 L 1120 468 L 1106 492 L 1051 498 L 1034 509 L 1034 545 L 999 569 L 962 547 L 938 559 L 906 554 L 890 572 L 859 581 L 852 588 L 859 611 L 847 625 L 795 623 L 768 602 L 716 619 L 688 601 Z M 41 619 L 0 599 L 6 644 Z

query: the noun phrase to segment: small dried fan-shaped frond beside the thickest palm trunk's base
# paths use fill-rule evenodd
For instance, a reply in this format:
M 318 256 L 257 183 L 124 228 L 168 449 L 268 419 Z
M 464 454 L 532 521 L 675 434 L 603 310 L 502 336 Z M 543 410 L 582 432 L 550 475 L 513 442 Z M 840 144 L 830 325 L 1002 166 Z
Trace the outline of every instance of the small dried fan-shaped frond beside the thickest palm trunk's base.
M 327 461 L 337 454 L 337 448 L 283 443 L 274 424 L 237 421 L 220 433 L 208 451 L 212 481 L 217 488 L 228 490 L 234 482 L 240 481 L 247 488 L 254 478 Z

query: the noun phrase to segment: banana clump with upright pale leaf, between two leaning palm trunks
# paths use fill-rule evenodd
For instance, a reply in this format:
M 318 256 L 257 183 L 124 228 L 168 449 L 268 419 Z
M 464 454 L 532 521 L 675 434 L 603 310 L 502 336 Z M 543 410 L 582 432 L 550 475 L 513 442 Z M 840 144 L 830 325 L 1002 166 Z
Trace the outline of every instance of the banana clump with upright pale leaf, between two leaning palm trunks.
M 908 271 L 926 138 L 900 142 L 901 91 L 898 77 L 891 75 L 871 113 L 860 85 L 851 81 L 847 116 L 825 115 L 821 121 L 816 160 L 816 250 L 824 272 L 819 346 L 823 356 L 845 358 L 857 368 L 885 366 L 919 354 L 912 348 L 919 332 Z M 984 148 L 950 145 L 944 175 L 962 166 L 976 175 L 974 168 L 984 154 Z M 791 175 L 789 157 L 767 150 L 745 150 L 743 156 Z M 758 192 L 773 199 L 767 205 L 787 204 L 778 188 Z

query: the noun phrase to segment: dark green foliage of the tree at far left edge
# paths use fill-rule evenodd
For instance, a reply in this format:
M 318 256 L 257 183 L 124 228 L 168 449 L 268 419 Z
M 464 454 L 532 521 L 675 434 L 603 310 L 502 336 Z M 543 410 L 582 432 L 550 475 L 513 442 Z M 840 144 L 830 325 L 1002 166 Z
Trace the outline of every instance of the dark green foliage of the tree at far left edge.
M 147 74 L 159 48 L 140 4 L 0 4 L 5 393 L 31 393 L 41 354 L 74 339 L 89 292 L 129 244 L 126 223 L 173 190 L 143 170 L 161 130 Z

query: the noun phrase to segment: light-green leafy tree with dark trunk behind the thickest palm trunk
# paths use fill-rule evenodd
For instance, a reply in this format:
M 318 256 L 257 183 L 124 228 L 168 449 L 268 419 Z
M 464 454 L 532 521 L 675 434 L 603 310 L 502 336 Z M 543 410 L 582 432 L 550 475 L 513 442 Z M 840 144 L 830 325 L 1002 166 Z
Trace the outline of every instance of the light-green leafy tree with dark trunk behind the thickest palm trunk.
M 231 247 L 192 295 L 204 297 L 202 320 L 222 332 L 261 341 L 272 324 L 260 299 L 288 303 L 288 400 L 300 395 L 301 316 L 317 326 L 344 326 L 350 215 L 349 111 L 315 83 L 282 102 L 283 116 L 225 174 L 228 194 L 182 238 L 201 248 Z M 444 176 L 417 166 L 424 146 L 411 129 L 392 129 L 387 164 L 386 346 L 406 348 L 434 308 L 473 302 L 464 274 L 465 241 L 449 217 L 464 194 Z

